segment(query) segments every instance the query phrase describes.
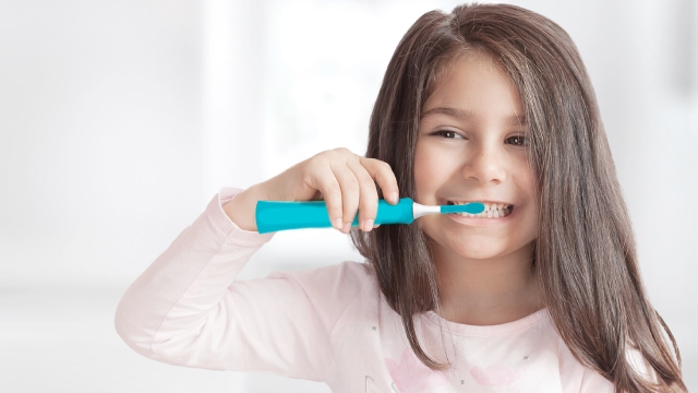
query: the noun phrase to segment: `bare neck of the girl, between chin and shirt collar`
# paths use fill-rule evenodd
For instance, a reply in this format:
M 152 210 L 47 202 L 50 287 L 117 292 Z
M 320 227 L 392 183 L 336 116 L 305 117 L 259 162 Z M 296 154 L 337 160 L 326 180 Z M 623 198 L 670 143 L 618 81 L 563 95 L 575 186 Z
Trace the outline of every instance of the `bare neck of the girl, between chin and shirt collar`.
M 452 322 L 495 325 L 543 307 L 531 269 L 532 243 L 507 255 L 467 260 L 443 248 L 432 250 L 440 283 L 437 313 Z

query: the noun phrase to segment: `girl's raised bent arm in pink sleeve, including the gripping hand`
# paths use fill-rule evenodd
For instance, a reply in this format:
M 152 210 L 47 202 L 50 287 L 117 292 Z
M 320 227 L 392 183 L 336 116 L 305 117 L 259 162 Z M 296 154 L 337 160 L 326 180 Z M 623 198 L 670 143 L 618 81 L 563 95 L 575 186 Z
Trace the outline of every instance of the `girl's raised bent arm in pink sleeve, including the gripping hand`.
M 398 202 L 386 163 L 337 148 L 231 202 L 239 190 L 224 190 L 129 287 L 117 309 L 117 331 L 136 352 L 174 365 L 322 380 L 332 364 L 332 330 L 361 290 L 356 264 L 249 282 L 234 277 L 272 237 L 255 231 L 256 201 L 322 194 L 337 229 L 349 233 L 358 210 L 362 229 L 371 230 L 376 182 Z

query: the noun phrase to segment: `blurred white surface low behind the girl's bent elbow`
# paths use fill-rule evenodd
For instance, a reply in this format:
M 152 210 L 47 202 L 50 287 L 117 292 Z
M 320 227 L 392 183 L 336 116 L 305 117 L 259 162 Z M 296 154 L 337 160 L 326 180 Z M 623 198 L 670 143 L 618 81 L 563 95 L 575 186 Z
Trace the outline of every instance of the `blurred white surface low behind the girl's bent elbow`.
M 323 383 L 272 373 L 191 369 L 147 359 L 112 327 L 124 289 L 1 289 L 0 392 L 329 392 Z M 674 324 L 695 326 L 698 320 L 682 322 Z M 684 353 L 684 373 L 689 391 L 698 389 L 695 353 Z

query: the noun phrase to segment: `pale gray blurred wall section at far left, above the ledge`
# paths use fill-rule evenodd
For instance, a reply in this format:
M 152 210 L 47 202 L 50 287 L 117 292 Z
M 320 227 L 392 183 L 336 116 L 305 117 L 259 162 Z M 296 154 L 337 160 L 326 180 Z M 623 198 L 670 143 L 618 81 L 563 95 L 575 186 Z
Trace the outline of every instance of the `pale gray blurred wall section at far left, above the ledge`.
M 127 283 L 201 210 L 195 1 L 0 2 L 0 285 Z

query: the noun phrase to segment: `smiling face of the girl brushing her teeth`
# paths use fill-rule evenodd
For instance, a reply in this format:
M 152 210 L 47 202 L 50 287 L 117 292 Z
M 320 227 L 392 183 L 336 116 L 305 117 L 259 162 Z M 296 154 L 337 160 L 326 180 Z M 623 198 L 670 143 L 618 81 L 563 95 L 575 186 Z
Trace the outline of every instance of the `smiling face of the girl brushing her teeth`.
M 479 201 L 485 217 L 419 218 L 435 255 L 531 258 L 538 203 L 519 95 L 488 56 L 454 60 L 424 104 L 414 152 L 416 202 Z

